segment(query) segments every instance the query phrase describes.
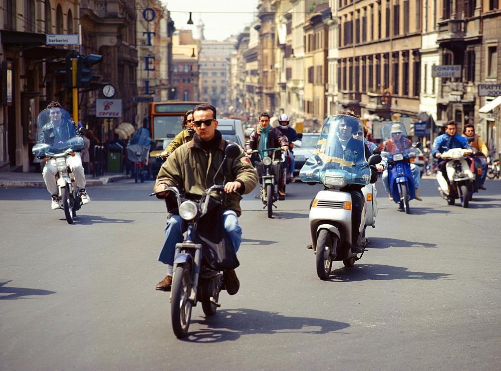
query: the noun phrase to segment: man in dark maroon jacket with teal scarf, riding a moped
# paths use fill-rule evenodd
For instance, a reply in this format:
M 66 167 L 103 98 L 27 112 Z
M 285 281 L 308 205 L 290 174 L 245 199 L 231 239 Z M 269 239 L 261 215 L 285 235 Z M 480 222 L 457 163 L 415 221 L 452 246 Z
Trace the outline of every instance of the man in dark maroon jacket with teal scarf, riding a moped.
M 245 150 L 250 153 L 256 149 L 263 150 L 267 148 L 282 148 L 282 150 L 287 151 L 289 149 L 289 141 L 285 135 L 281 135 L 280 131 L 270 125 L 270 115 L 266 112 L 259 116 L 259 125 L 256 130 L 254 130 L 249 135 L 249 140 L 245 142 Z M 272 167 L 272 171 L 275 170 L 275 166 Z M 275 171 L 274 171 L 275 172 Z M 284 184 L 282 181 L 282 174 L 274 173 L 275 178 L 278 181 L 278 194 L 280 197 L 285 197 Z

